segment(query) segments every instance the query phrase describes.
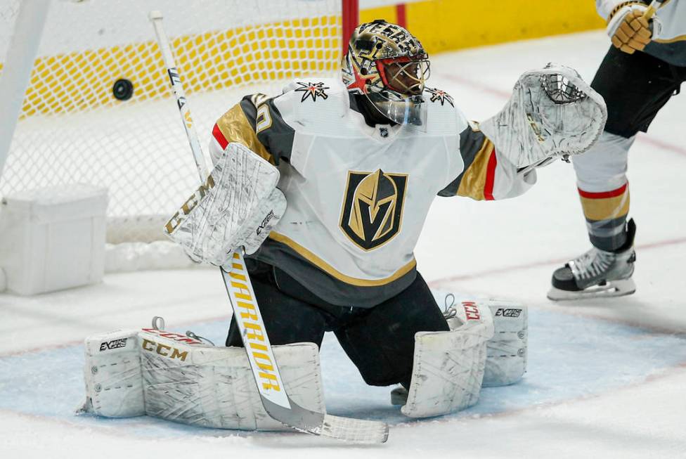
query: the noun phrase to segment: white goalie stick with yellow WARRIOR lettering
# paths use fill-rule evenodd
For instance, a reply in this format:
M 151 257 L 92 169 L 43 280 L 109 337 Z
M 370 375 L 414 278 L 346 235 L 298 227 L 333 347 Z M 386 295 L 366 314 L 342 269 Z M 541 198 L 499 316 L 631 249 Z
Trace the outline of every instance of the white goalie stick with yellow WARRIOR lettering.
M 186 128 L 186 135 L 193 152 L 195 166 L 200 175 L 200 188 L 196 195 L 204 195 L 207 188 L 214 186 L 211 180 L 205 183 L 207 168 L 205 157 L 200 148 L 198 134 L 190 117 L 188 101 L 186 101 L 181 78 L 176 70 L 174 56 L 171 53 L 169 39 L 162 27 L 162 13 L 150 12 L 150 21 L 153 22 L 157 43 L 162 51 L 164 65 L 171 82 L 171 88 L 176 96 L 179 106 L 181 121 Z M 200 193 L 200 194 L 198 194 Z M 190 212 L 190 209 L 188 210 Z M 183 218 L 179 216 L 178 218 Z M 259 312 L 257 299 L 252 289 L 250 276 L 245 268 L 245 260 L 238 251 L 232 255 L 230 263 L 220 268 L 221 277 L 228 293 L 233 309 L 238 330 L 247 353 L 250 368 L 257 384 L 257 391 L 264 406 L 264 410 L 275 420 L 292 427 L 299 432 L 306 432 L 323 437 L 331 437 L 339 440 L 355 441 L 358 443 L 384 443 L 388 439 L 388 426 L 384 422 L 358 420 L 354 418 L 342 418 L 325 413 L 308 410 L 292 401 L 285 392 L 285 386 L 281 380 L 276 358 L 274 358 L 271 344 L 264 327 L 264 321 Z

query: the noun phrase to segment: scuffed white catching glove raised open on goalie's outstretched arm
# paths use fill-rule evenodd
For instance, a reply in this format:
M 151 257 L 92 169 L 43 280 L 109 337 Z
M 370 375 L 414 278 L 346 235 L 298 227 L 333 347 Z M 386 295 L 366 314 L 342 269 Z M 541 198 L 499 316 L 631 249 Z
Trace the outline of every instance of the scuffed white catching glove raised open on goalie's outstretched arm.
M 496 150 L 519 168 L 579 155 L 595 143 L 607 120 L 600 94 L 576 70 L 548 64 L 525 72 L 503 110 L 480 124 Z

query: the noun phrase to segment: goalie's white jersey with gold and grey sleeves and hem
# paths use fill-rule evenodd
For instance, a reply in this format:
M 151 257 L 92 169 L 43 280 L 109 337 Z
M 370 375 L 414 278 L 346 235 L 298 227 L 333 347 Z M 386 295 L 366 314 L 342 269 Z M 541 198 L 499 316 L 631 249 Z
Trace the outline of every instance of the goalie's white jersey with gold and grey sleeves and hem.
M 444 91 L 427 89 L 427 126 L 365 124 L 333 79 L 246 96 L 214 126 L 211 150 L 244 143 L 277 164 L 283 218 L 253 254 L 331 304 L 371 307 L 413 282 L 413 250 L 436 195 L 477 200 L 536 180 L 500 157 Z

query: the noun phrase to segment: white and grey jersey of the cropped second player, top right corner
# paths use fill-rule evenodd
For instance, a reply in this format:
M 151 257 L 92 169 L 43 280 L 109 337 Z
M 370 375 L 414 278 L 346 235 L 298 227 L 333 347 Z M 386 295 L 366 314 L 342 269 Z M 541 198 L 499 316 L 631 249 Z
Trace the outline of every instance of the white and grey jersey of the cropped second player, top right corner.
M 649 1 L 595 0 L 595 8 L 604 20 L 626 4 L 649 4 Z M 666 0 L 655 13 L 662 30 L 645 47 L 645 53 L 672 65 L 686 66 L 686 0 Z

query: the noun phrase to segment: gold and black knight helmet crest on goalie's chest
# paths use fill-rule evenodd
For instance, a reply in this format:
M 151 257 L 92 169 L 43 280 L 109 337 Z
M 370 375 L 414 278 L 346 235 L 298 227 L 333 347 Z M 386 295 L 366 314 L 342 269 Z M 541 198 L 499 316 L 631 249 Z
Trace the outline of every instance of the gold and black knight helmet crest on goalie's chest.
M 340 228 L 362 250 L 374 250 L 400 231 L 406 174 L 348 172 Z

